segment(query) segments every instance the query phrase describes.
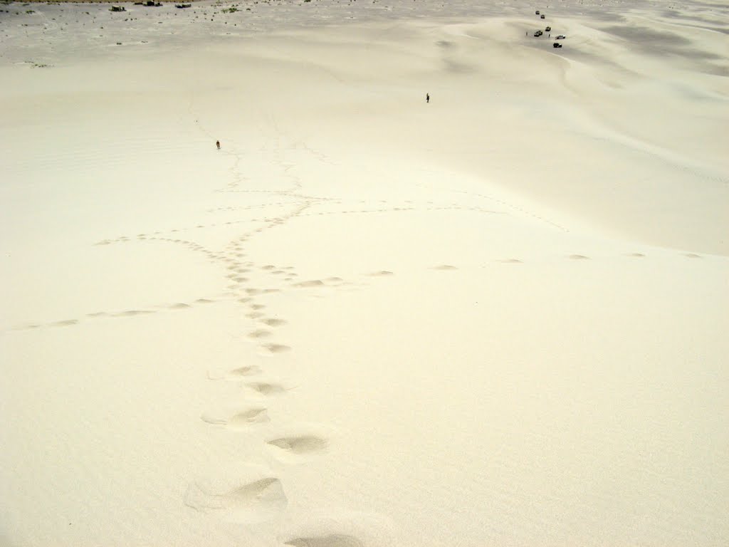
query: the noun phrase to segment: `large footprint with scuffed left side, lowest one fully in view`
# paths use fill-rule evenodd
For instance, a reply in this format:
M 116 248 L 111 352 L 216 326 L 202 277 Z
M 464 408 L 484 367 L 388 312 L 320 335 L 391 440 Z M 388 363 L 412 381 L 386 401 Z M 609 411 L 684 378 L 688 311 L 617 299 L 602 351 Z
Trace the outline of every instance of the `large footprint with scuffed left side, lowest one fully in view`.
M 224 492 L 190 484 L 184 504 L 202 513 L 217 513 L 226 520 L 252 524 L 268 521 L 286 507 L 286 494 L 275 477 L 262 478 Z

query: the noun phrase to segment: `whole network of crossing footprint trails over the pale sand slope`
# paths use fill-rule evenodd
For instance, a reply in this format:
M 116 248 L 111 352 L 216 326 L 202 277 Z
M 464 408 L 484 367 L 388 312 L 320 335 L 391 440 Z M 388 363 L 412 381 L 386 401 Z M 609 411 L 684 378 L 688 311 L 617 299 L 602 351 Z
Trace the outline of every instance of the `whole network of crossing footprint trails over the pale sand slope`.
M 249 329 L 243 333 L 245 338 L 252 341 L 257 349 L 259 359 L 256 365 L 245 363 L 246 356 L 249 356 L 248 349 L 241 349 L 241 360 L 244 364 L 227 371 L 207 372 L 209 381 L 227 381 L 241 384 L 241 392 L 237 400 L 232 400 L 227 405 L 229 411 L 202 411 L 200 419 L 209 427 L 222 427 L 230 432 L 230 435 L 250 435 L 257 432 L 252 442 L 261 443 L 260 461 L 246 462 L 247 465 L 262 466 L 262 472 L 257 478 L 245 478 L 246 473 L 238 474 L 235 471 L 227 475 L 211 478 L 198 478 L 190 481 L 187 491 L 184 494 L 184 504 L 192 510 L 206 513 L 211 516 L 249 524 L 260 521 L 276 519 L 286 509 L 287 498 L 285 485 L 276 476 L 273 470 L 268 468 L 270 457 L 273 456 L 281 465 L 305 465 L 305 462 L 321 454 L 330 447 L 331 440 L 327 435 L 313 432 L 311 427 L 302 426 L 299 431 L 290 431 L 286 435 L 273 434 L 271 427 L 276 426 L 268 414 L 268 403 L 274 397 L 286 397 L 295 390 L 295 386 L 286 384 L 285 379 L 277 379 L 269 376 L 270 372 L 265 367 L 265 362 L 270 359 L 295 359 L 295 348 L 286 344 L 286 340 L 280 336 L 282 327 L 288 323 L 285 317 L 280 317 L 275 310 L 270 309 L 268 297 L 273 294 L 315 291 L 319 295 L 327 295 L 338 290 L 351 290 L 367 287 L 373 283 L 386 282 L 386 279 L 395 276 L 394 271 L 388 269 L 373 269 L 373 271 L 362 272 L 359 279 L 345 279 L 336 275 L 335 272 L 319 277 L 318 279 L 300 279 L 296 268 L 289 264 L 258 263 L 249 257 L 247 244 L 252 238 L 260 236 L 268 230 L 275 230 L 286 225 L 297 217 L 324 215 L 324 214 L 408 214 L 413 211 L 443 211 L 463 210 L 477 214 L 512 214 L 512 212 L 494 211 L 487 207 L 478 205 L 461 206 L 459 203 L 435 203 L 423 201 L 416 203 L 404 201 L 402 203 L 389 203 L 387 201 L 349 201 L 345 203 L 335 198 L 321 198 L 315 195 L 303 193 L 303 183 L 292 174 L 290 160 L 286 160 L 286 149 L 281 144 L 281 136 L 273 139 L 273 149 L 268 148 L 268 160 L 273 171 L 278 173 L 278 181 L 283 187 L 277 190 L 265 190 L 252 188 L 253 181 L 241 172 L 243 155 L 235 149 L 227 148 L 225 158 L 232 159 L 230 168 L 230 182 L 225 187 L 215 190 L 219 193 L 257 193 L 270 196 L 267 203 L 260 203 L 253 206 L 226 206 L 215 209 L 208 209 L 205 213 L 210 215 L 230 214 L 231 212 L 252 212 L 261 209 L 260 216 L 241 218 L 238 220 L 226 220 L 225 222 L 200 222 L 188 225 L 187 227 L 174 228 L 166 231 L 140 232 L 134 236 L 119 236 L 107 238 L 95 242 L 96 246 L 109 245 L 144 245 L 149 242 L 157 244 L 170 244 L 184 247 L 192 253 L 198 253 L 214 264 L 221 266 L 222 283 L 225 290 L 217 295 L 201 295 L 192 301 L 157 303 L 152 306 L 130 306 L 122 311 L 93 311 L 85 314 L 85 317 L 61 319 L 53 322 L 32 323 L 21 325 L 16 330 L 39 328 L 39 327 L 74 327 L 87 320 L 110 320 L 125 319 L 133 320 L 135 317 L 156 313 L 179 313 L 185 310 L 195 309 L 197 306 L 211 306 L 219 302 L 233 301 L 241 306 L 241 314 L 249 320 Z M 318 160 L 326 160 L 323 155 L 317 154 L 308 147 L 296 147 L 296 153 L 307 152 Z M 243 188 L 243 182 L 246 188 Z M 452 190 L 457 193 L 456 190 Z M 494 202 L 493 198 L 485 195 L 475 195 L 475 198 L 483 198 Z M 319 203 L 327 203 L 329 206 L 336 206 L 338 209 L 329 212 L 313 212 L 313 206 Z M 499 205 L 509 206 L 507 203 L 498 202 Z M 511 206 L 509 206 L 511 207 Z M 518 209 L 511 207 L 512 209 Z M 266 214 L 276 210 L 276 214 Z M 518 209 L 522 212 L 521 209 Z M 524 212 L 522 212 L 524 213 Z M 528 213 L 526 213 L 528 214 Z M 553 227 L 566 230 L 554 222 L 541 219 Z M 205 233 L 208 228 L 219 228 L 225 226 L 235 236 L 225 244 L 222 249 L 213 249 L 196 241 L 196 234 Z M 693 253 L 685 254 L 688 258 L 698 258 Z M 642 253 L 626 252 L 625 257 L 643 258 Z M 590 260 L 587 255 L 574 252 L 572 255 L 561 257 L 566 260 Z M 521 257 L 504 257 L 495 260 L 495 263 L 518 265 L 528 262 Z M 458 265 L 448 263 L 437 263 L 430 266 L 435 274 L 448 275 L 448 272 L 459 270 Z M 379 280 L 382 281 L 379 281 Z M 222 401 L 211 401 L 221 403 Z M 324 424 L 315 430 L 325 431 Z M 257 440 L 255 440 L 257 439 Z M 225 462 L 221 462 L 225 463 Z M 340 533 L 340 530 L 332 529 L 329 533 L 317 536 L 300 536 L 289 540 L 285 545 L 295 547 L 363 547 L 364 543 L 359 538 Z

